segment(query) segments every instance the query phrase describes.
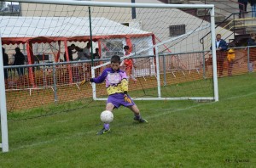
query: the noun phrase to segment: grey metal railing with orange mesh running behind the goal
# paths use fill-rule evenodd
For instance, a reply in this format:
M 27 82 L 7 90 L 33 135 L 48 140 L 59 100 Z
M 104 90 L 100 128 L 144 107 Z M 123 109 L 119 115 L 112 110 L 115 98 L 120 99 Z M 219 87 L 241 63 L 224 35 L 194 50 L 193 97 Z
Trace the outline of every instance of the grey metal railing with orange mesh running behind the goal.
M 234 49 L 236 56 L 232 60 L 232 76 L 253 71 L 253 63 L 256 60 L 256 48 Z M 156 76 L 154 55 L 135 56 L 133 59 L 136 62 L 136 68 L 133 69 L 134 76 L 143 78 L 143 82 L 146 83 L 143 84 L 143 87 L 154 87 L 146 79 L 147 77 L 152 78 L 152 76 Z M 189 80 L 198 80 L 207 76 L 211 77 L 211 59 L 210 52 L 160 54 L 161 84 L 166 83 L 166 76 L 171 76 L 173 78 L 171 79 L 172 81 L 176 78 L 176 82 L 184 82 L 188 76 Z M 96 59 L 93 64 L 103 64 L 106 61 L 109 61 L 109 59 Z M 228 66 L 228 60 L 225 58 L 224 76 L 229 76 Z M 96 76 L 99 76 L 104 68 L 97 69 Z M 45 104 L 54 104 L 55 102 L 61 103 L 81 98 L 91 98 L 92 91 L 90 85 L 85 87 L 79 86 L 79 83 L 84 79 L 90 79 L 90 70 L 90 60 L 4 66 L 4 71 L 8 73 L 5 79 L 8 110 L 27 109 Z M 177 79 L 177 73 L 182 74 L 180 79 Z M 194 77 L 193 74 L 198 76 Z M 156 84 L 155 81 L 154 84 Z M 131 85 L 131 90 L 136 89 L 142 88 Z M 102 92 L 106 94 L 103 87 Z

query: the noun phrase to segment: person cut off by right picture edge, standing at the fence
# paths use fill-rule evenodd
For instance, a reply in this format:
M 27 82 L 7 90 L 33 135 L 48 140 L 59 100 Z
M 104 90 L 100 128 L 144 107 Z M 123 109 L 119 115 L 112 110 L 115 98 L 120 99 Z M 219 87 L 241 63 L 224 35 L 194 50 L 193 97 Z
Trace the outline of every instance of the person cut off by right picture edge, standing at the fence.
M 256 60 L 256 48 L 253 48 L 253 46 L 256 46 L 255 38 L 255 33 L 251 33 L 247 41 L 247 45 L 249 46 L 249 72 L 253 72 L 253 62 Z

